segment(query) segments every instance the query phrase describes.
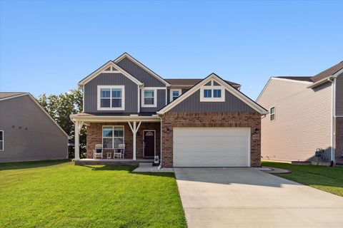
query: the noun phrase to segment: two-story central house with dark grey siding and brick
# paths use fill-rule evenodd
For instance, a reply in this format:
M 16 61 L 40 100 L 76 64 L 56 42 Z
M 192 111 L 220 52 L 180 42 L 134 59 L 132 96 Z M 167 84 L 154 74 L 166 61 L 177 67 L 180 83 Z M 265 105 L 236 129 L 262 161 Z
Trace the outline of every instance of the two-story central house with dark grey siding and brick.
M 164 79 L 124 53 L 79 82 L 84 111 L 75 123 L 76 164 L 151 162 L 162 167 L 259 167 L 261 116 L 267 110 L 212 73 Z M 79 130 L 86 125 L 86 157 Z M 106 160 L 125 145 L 121 160 Z M 94 158 L 103 145 L 104 160 Z M 152 160 L 153 161 L 153 160 Z

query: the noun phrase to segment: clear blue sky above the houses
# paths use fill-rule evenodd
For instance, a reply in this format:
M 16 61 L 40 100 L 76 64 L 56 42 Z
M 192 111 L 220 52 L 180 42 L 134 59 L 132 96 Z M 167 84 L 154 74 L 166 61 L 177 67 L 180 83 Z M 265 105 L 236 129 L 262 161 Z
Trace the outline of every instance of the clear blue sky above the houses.
M 64 93 L 121 53 L 164 78 L 270 76 L 343 61 L 342 1 L 1 1 L 0 90 Z

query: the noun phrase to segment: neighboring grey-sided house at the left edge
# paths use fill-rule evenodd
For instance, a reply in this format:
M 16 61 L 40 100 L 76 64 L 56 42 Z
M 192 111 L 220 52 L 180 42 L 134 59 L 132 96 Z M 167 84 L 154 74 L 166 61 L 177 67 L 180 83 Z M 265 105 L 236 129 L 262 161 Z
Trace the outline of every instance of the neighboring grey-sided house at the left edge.
M 68 135 L 29 93 L 0 92 L 0 162 L 68 158 Z

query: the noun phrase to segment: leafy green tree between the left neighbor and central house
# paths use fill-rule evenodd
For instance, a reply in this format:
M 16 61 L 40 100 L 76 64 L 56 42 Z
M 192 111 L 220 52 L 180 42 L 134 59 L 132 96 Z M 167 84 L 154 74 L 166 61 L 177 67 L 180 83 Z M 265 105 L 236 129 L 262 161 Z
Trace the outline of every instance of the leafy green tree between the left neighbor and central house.
M 61 93 L 59 95 L 49 95 L 46 96 L 45 93 L 39 95 L 36 100 L 39 104 L 46 110 L 51 118 L 53 118 L 57 124 L 69 135 L 71 141 L 74 142 L 74 123 L 70 119 L 71 114 L 82 112 L 82 102 L 83 93 L 82 90 L 77 88 L 74 90 L 69 90 L 66 93 Z M 81 153 L 80 157 L 84 157 L 84 152 L 86 152 L 86 129 L 83 127 L 80 132 L 80 147 Z M 69 157 L 74 157 L 74 152 L 72 152 Z

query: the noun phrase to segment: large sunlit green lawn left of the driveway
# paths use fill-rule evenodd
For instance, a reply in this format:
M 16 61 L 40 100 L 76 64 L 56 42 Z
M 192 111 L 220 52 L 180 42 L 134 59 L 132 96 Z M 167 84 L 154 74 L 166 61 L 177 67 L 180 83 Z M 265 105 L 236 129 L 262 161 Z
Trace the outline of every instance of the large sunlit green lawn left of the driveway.
M 174 174 L 131 170 L 0 164 L 0 227 L 187 227 Z

